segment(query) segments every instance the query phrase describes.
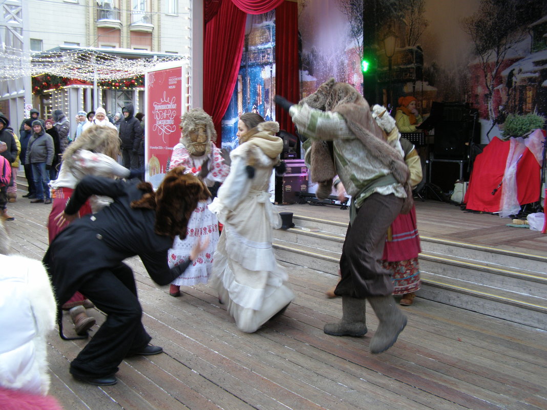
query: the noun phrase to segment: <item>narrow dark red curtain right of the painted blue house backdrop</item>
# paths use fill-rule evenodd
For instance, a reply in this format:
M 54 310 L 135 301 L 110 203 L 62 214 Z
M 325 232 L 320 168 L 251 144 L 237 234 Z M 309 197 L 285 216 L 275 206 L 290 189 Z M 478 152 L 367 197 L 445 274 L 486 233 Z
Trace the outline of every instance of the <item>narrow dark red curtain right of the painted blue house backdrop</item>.
M 284 2 L 276 9 L 275 35 L 275 92 L 296 103 L 300 100 L 298 3 Z M 294 125 L 289 113 L 276 106 L 275 114 L 280 129 L 294 134 Z

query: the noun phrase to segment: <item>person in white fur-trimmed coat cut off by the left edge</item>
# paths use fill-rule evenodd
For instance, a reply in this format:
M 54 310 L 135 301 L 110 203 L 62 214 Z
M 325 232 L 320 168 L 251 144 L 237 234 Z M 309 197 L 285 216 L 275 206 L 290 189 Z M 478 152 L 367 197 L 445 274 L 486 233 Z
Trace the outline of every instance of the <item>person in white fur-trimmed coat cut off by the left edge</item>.
M 0 408 L 60 410 L 47 396 L 46 336 L 56 317 L 49 277 L 42 262 L 9 253 L 0 222 Z

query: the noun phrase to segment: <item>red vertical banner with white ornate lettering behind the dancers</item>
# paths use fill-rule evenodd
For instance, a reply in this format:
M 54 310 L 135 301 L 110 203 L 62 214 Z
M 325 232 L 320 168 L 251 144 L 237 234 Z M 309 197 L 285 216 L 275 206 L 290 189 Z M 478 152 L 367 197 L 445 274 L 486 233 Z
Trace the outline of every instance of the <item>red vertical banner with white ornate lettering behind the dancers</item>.
M 167 173 L 173 147 L 181 138 L 181 115 L 186 110 L 186 67 L 160 67 L 146 73 L 145 177 L 154 189 Z

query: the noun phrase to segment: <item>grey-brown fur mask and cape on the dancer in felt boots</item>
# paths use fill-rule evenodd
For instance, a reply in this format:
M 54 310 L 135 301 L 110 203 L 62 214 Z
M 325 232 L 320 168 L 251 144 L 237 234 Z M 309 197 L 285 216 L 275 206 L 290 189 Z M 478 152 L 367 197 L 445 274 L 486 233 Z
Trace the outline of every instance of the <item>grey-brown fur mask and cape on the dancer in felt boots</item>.
M 347 127 L 363 143 L 365 149 L 369 153 L 374 153 L 376 158 L 391 170 L 395 180 L 404 186 L 407 197 L 401 213 L 408 213 L 413 204 L 408 166 L 400 153 L 384 140 L 384 134 L 376 124 L 369 104 L 363 96 L 351 85 L 336 83 L 334 78 L 331 78 L 300 103 L 306 103 L 312 108 L 333 111 L 344 117 Z M 323 143 L 312 142 L 311 179 L 319 183 L 319 194 L 316 194 L 318 198 L 320 195 L 324 196 L 325 192 L 330 192 L 332 179 L 336 175 L 332 152 L 325 148 L 328 146 Z

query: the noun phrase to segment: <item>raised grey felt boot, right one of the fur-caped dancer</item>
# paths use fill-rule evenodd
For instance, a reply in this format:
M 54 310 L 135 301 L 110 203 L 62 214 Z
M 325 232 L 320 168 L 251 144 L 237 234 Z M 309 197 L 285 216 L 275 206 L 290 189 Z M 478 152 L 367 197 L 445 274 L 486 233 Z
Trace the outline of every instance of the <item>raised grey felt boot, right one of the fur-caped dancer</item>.
M 406 317 L 391 295 L 369 297 L 369 302 L 380 320 L 378 329 L 370 340 L 370 353 L 382 353 L 397 341 L 399 333 L 406 326 Z

